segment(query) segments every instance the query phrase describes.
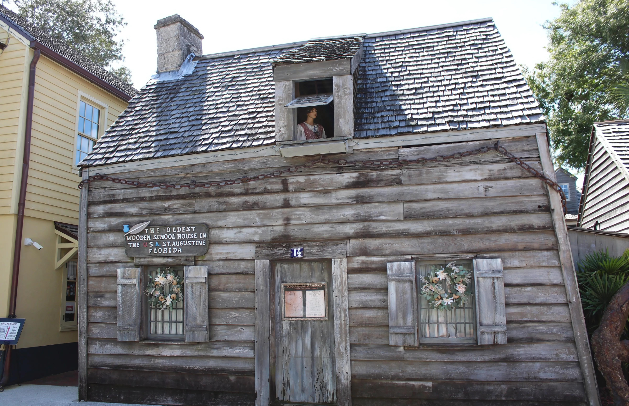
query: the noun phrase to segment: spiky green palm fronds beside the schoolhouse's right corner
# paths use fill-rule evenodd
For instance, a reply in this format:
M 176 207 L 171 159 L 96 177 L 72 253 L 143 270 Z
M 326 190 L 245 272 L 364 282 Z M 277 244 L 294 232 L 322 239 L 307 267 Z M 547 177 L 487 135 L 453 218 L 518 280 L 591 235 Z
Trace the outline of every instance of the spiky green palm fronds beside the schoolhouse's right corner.
M 607 250 L 595 252 L 579 263 L 579 292 L 590 333 L 598 327 L 611 298 L 629 280 L 628 268 L 629 250 L 618 257 L 610 256 Z

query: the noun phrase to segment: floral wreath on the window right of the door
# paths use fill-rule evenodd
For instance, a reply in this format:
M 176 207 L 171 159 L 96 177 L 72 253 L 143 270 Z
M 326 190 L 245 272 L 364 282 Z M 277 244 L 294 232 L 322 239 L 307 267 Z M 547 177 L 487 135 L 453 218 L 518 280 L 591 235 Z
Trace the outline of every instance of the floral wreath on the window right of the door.
M 461 307 L 470 300 L 472 294 L 467 287 L 472 282 L 472 271 L 463 269 L 461 265 L 448 263 L 445 268 L 433 266 L 429 275 L 420 277 L 423 285 L 421 295 L 435 306 L 437 310 L 452 310 Z M 445 288 L 442 281 L 445 280 Z M 456 290 L 455 293 L 452 290 Z

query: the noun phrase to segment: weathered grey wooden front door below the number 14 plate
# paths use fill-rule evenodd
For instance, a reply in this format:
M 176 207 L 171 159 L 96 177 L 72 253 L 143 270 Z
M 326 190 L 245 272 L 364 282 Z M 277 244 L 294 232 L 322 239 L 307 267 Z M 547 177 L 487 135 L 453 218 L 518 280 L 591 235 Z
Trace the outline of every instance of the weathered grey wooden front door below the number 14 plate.
M 274 263 L 271 283 L 274 288 L 270 309 L 273 318 L 270 334 L 270 376 L 273 380 L 271 388 L 275 392 L 271 398 L 279 404 L 335 404 L 337 382 L 330 260 Z M 303 292 L 303 312 L 294 313 L 293 310 L 284 309 L 283 300 L 286 297 L 289 297 L 290 302 L 290 297 L 299 296 L 299 292 L 289 290 L 299 289 L 300 286 L 304 290 L 321 290 L 321 286 L 324 287 L 325 317 L 306 309 L 306 305 L 313 303 L 315 294 L 323 297 L 320 291 L 312 295 Z M 306 300 L 309 302 L 306 303 Z M 312 317 L 313 315 L 316 317 Z M 299 316 L 303 316 L 303 319 L 298 319 Z

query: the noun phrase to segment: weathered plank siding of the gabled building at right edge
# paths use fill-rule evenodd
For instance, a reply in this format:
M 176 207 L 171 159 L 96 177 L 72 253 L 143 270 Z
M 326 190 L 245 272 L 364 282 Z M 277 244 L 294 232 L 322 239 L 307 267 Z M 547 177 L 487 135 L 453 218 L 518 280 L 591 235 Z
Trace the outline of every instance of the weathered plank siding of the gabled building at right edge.
M 629 233 L 629 182 L 598 135 L 590 160 L 579 227 Z

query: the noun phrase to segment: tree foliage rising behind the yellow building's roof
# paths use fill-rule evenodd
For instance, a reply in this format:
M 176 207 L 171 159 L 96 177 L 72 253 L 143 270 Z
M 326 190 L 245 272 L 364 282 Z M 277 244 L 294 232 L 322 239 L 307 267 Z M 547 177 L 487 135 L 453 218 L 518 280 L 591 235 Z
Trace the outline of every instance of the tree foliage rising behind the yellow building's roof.
M 128 69 L 111 66 L 125 60 L 124 40 L 116 41 L 116 35 L 126 25 L 111 0 L 11 0 L 9 3 L 30 23 L 64 41 L 94 65 L 131 82 Z

